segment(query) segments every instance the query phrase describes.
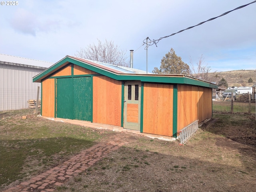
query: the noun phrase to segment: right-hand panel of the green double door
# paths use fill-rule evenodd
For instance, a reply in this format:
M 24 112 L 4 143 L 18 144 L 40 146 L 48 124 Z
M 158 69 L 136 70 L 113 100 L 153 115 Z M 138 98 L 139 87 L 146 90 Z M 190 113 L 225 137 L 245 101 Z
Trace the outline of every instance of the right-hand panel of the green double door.
M 73 78 L 74 119 L 92 121 L 92 78 Z

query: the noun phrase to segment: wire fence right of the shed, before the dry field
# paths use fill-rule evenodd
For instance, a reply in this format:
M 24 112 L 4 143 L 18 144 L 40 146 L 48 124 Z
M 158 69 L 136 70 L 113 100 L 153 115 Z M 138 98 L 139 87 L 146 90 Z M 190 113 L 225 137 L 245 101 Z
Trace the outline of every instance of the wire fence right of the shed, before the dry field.
M 233 108 L 233 109 L 232 109 Z M 213 112 L 228 112 L 228 113 L 248 113 L 255 114 L 255 100 L 249 101 L 239 101 L 231 100 L 226 101 L 212 101 L 212 111 Z

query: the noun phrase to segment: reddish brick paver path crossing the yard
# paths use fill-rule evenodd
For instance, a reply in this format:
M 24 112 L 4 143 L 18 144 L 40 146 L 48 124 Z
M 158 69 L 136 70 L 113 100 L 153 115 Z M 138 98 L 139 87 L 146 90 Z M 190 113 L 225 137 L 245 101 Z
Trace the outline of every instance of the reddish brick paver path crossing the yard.
M 91 167 L 94 163 L 106 157 L 108 153 L 118 149 L 125 143 L 127 142 L 122 141 L 118 136 L 111 141 L 98 143 L 65 161 L 62 165 L 34 176 L 30 180 L 4 192 L 52 192 L 55 186 L 61 186 L 69 178 Z

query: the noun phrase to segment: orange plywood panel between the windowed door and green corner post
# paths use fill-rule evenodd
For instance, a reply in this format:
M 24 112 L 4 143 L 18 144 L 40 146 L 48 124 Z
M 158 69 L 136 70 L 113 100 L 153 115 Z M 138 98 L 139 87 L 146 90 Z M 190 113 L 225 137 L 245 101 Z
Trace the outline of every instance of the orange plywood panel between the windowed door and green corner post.
M 173 85 L 144 83 L 143 132 L 172 136 Z

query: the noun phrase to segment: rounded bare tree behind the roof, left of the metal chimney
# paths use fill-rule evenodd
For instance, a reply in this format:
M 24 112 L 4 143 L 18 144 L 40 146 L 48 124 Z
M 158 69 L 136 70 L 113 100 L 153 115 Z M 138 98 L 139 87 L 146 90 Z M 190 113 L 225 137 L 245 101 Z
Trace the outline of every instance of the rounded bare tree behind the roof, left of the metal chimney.
M 105 40 L 105 42 L 102 43 L 98 39 L 98 45 L 90 44 L 87 48 L 81 48 L 80 51 L 77 51 L 75 56 L 112 65 L 129 66 L 128 61 L 126 61 L 126 52 L 117 45 L 114 45 L 113 41 Z

